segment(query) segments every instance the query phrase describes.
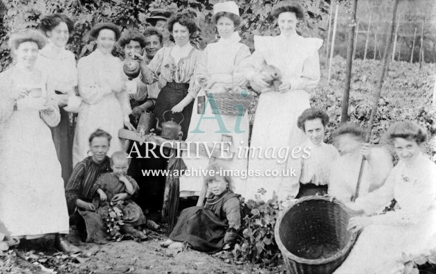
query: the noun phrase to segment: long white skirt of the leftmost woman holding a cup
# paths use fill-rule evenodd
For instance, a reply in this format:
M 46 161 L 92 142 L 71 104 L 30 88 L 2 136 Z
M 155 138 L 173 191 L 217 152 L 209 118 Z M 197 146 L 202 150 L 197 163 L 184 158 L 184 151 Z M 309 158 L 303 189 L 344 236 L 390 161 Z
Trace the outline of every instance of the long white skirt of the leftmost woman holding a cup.
M 15 237 L 68 233 L 64 180 L 50 128 L 39 111 L 0 124 L 0 220 Z

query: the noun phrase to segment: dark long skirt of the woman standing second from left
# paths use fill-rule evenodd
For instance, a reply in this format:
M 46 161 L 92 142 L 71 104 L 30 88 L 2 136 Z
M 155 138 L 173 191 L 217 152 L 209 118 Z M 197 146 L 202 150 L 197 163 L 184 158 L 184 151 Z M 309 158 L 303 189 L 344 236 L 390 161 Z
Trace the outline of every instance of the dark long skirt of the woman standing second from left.
M 71 114 L 72 116 L 73 114 Z M 64 185 L 70 179 L 73 170 L 73 139 L 74 139 L 74 121 L 70 121 L 70 113 L 60 108 L 60 123 L 51 128 L 51 136 L 55 143 L 57 159 L 62 167 L 62 179 Z

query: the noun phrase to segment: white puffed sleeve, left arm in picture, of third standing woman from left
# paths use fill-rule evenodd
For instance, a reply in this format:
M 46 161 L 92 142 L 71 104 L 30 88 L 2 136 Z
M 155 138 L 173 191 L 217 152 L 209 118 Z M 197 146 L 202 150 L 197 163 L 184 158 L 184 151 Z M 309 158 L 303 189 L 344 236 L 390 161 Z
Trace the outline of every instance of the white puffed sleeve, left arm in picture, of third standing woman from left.
M 98 81 L 98 71 L 92 60 L 91 56 L 87 56 L 78 62 L 79 93 L 87 104 L 97 104 L 105 95 L 112 92 L 108 83 Z

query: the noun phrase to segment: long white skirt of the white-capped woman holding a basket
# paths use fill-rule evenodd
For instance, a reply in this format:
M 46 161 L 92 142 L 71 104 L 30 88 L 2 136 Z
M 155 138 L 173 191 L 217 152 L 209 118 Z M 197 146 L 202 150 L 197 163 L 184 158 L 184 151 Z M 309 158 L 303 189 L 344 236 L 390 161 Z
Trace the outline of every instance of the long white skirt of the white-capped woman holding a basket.
M 203 91 L 199 93 L 199 96 L 202 95 L 204 95 Z M 197 113 L 197 102 L 199 96 L 197 96 L 194 101 L 194 110 L 192 110 L 188 138 L 186 139 L 187 142 L 191 142 L 190 146 L 195 148 L 195 144 L 197 142 L 206 142 L 206 144 L 212 148 L 214 146 L 214 142 L 218 142 L 216 146 L 218 147 L 219 142 L 223 140 L 223 135 L 228 135 L 231 137 L 233 143 L 230 151 L 233 150 L 235 154 L 237 154 L 239 150 L 244 151 L 244 148 L 248 147 L 248 113 L 245 112 L 244 116 L 220 115 L 223 121 L 221 127 L 224 126 L 226 129 L 224 130 L 224 127 L 220 128 L 217 119 L 204 119 L 205 117 L 218 116 L 215 116 L 212 113 L 210 104 L 206 104 L 205 114 L 203 115 L 203 119 L 201 119 L 201 115 Z M 217 118 L 219 119 L 219 117 Z M 223 133 L 224 131 L 228 132 Z M 224 140 L 227 139 L 228 138 L 224 136 Z M 212 151 L 212 149 L 210 151 Z M 226 155 L 226 153 L 224 153 L 224 155 Z M 188 153 L 183 151 L 183 162 L 185 162 L 188 170 L 193 171 L 190 176 L 184 175 L 180 177 L 181 197 L 199 195 L 203 186 L 203 175 L 201 175 L 200 171 L 206 170 L 208 164 L 210 164 L 210 158 L 201 154 L 199 154 L 198 158 L 195 158 L 196 156 L 197 155 L 194 150 L 190 152 L 189 157 Z M 232 179 L 234 192 L 244 196 L 246 193 L 246 175 L 243 173 L 246 173 L 247 170 L 246 157 L 238 157 L 238 155 L 234 155 L 232 159 L 213 159 L 213 161 L 219 162 L 233 171 Z

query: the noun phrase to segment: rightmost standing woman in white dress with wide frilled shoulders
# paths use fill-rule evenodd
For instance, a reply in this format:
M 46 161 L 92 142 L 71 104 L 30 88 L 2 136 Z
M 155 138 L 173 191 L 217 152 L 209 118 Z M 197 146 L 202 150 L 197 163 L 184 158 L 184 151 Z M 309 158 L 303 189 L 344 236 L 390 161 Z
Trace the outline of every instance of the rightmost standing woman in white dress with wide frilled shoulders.
M 282 173 L 298 164 L 298 159 L 293 159 L 291 152 L 305 140 L 305 135 L 297 127 L 297 118 L 310 107 L 306 90 L 314 88 L 320 80 L 318 49 L 323 45 L 321 39 L 305 38 L 297 34 L 296 25 L 304 14 L 300 4 L 282 1 L 272 12 L 273 17 L 278 19 L 280 35 L 254 37 L 253 68 L 246 76 L 255 90 L 264 92 L 259 97 L 255 113 L 250 144 L 255 153 L 248 159 L 248 170 L 260 170 L 262 173 L 277 170 Z M 278 87 L 278 92 L 267 88 L 266 81 L 269 77 L 262 74 L 265 65 L 275 66 L 281 72 L 282 84 Z M 258 148 L 263 148 L 262 154 L 258 153 Z M 289 157 L 278 159 L 280 150 L 284 155 L 286 148 L 289 148 Z M 298 148 L 294 150 L 296 158 L 302 153 L 297 153 L 297 150 Z M 284 175 L 275 177 L 248 177 L 248 198 L 254 199 L 259 194 L 258 189 L 264 188 L 266 193 L 260 195 L 260 199 L 271 199 L 273 193 L 278 193 L 281 184 L 291 184 L 292 178 L 286 175 L 291 173 L 285 171 Z

